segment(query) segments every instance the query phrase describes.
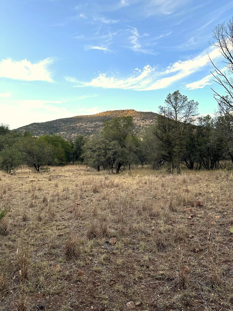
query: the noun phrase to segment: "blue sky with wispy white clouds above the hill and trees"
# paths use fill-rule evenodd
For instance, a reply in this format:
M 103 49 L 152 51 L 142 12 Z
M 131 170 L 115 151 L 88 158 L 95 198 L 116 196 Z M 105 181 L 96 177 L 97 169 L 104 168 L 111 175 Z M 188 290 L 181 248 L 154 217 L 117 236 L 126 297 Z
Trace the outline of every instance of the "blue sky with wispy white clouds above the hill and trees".
M 0 123 L 158 112 L 177 89 L 211 114 L 209 41 L 232 15 L 228 0 L 1 0 Z

